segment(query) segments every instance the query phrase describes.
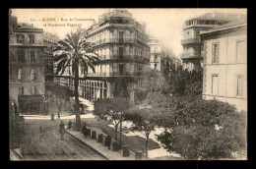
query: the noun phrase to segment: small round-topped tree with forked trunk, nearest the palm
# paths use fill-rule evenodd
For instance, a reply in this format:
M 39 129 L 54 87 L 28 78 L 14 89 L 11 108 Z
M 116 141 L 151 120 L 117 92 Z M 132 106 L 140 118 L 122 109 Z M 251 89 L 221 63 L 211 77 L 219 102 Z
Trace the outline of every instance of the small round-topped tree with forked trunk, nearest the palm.
M 117 141 L 117 130 L 120 125 L 120 144 L 122 142 L 122 121 L 125 111 L 130 107 L 127 98 L 114 97 L 98 99 L 95 102 L 94 113 L 100 118 L 110 122 L 115 131 L 115 141 Z

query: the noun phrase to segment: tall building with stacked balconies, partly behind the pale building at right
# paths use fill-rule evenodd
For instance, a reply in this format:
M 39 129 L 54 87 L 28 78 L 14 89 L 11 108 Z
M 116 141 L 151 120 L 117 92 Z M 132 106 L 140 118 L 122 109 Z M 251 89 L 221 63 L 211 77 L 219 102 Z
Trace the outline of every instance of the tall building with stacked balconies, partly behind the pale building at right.
M 231 21 L 244 17 L 244 15 L 214 12 L 187 20 L 183 28 L 184 38 L 181 40 L 183 45 L 183 53 L 181 54 L 183 69 L 187 69 L 188 71 L 202 70 L 203 57 L 201 56 L 201 49 L 203 42 L 199 35 L 201 30 L 218 28 Z

